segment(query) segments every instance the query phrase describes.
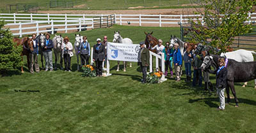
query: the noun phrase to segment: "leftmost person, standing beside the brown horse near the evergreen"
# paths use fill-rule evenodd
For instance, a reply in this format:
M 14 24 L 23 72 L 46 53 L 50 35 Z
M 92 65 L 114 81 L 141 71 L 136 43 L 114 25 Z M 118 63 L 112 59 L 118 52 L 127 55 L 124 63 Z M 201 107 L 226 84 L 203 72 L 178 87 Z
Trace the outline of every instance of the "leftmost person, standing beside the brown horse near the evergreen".
M 38 59 L 38 49 L 39 49 L 39 43 L 36 40 L 36 34 L 32 34 L 32 41 L 33 41 L 33 52 L 30 53 L 30 73 L 34 73 L 34 66 L 35 66 L 35 71 L 38 73 L 40 71 L 39 65 L 37 63 Z

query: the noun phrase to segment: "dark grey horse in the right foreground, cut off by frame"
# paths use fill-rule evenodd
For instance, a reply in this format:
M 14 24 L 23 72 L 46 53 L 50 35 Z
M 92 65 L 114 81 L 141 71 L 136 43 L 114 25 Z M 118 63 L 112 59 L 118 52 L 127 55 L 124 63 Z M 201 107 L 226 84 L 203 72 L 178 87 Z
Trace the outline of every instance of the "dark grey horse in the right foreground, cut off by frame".
M 220 55 L 210 55 L 209 53 L 205 56 L 204 62 L 201 68 L 205 71 L 208 66 L 214 66 L 218 68 L 218 59 Z M 236 90 L 234 87 L 235 82 L 250 81 L 256 78 L 256 62 L 237 62 L 233 59 L 226 58 L 227 67 L 227 103 L 230 102 L 229 87 L 231 88 L 232 94 L 235 97 L 236 107 L 238 107 L 238 99 L 236 97 Z M 239 73 L 237 73 L 239 72 Z

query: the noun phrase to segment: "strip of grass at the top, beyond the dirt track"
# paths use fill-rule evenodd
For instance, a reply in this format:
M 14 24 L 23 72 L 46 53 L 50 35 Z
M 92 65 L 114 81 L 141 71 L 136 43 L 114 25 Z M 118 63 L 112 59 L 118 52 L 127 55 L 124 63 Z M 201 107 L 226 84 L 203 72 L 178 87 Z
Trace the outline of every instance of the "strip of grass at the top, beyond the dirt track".
M 62 2 L 61 2 L 62 1 Z M 25 4 L 36 5 L 40 10 L 125 10 L 137 6 L 144 8 L 177 8 L 186 7 L 184 4 L 190 4 L 189 0 L 2 0 L 0 5 L 2 12 L 8 12 L 8 4 L 17 4 L 19 11 L 23 9 Z M 50 6 L 50 2 L 51 6 Z M 73 4 L 73 8 L 70 8 Z M 20 6 L 22 5 L 22 6 Z M 57 5 L 57 6 L 56 6 Z M 153 7 L 154 6 L 154 7 Z M 67 8 L 68 7 L 68 8 Z M 191 7 L 191 6 L 190 6 Z M 12 7 L 12 11 L 16 10 L 16 6 Z

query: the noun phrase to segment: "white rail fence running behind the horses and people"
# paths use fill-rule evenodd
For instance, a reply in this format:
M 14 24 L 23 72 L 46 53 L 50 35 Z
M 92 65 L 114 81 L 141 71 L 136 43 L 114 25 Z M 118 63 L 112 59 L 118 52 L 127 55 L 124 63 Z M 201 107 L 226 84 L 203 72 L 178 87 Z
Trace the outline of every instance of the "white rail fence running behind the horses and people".
M 86 15 L 86 14 L 16 14 L 16 13 L 0 13 L 0 19 L 3 18 L 10 25 L 19 25 L 19 28 L 11 28 L 10 30 L 13 31 L 13 35 L 22 36 L 23 34 L 31 34 L 38 33 L 38 32 L 49 32 L 51 31 L 54 33 L 55 27 L 65 27 L 62 29 L 56 29 L 55 31 L 65 31 L 71 29 L 87 29 L 92 28 L 93 24 L 97 25 L 106 25 L 109 21 L 109 15 Z M 115 14 L 113 20 L 111 20 L 111 24 L 120 24 L 120 25 L 147 25 L 150 26 L 159 26 L 159 27 L 166 27 L 166 26 L 174 26 L 180 24 L 188 24 L 188 20 L 196 20 L 197 17 L 199 20 L 203 22 L 203 18 L 200 15 L 122 15 L 122 14 Z M 246 21 L 247 24 L 255 24 L 256 22 L 256 13 L 248 13 L 248 17 L 250 17 L 249 21 Z M 112 15 L 110 17 L 112 19 Z M 11 24 L 10 24 L 11 23 Z M 56 24 L 57 23 L 57 24 Z M 60 24 L 62 23 L 62 24 Z M 71 23 L 71 24 L 68 24 Z M 33 27 L 23 27 L 23 25 L 34 24 Z M 45 24 L 45 25 L 39 25 Z M 48 24 L 48 25 L 47 25 Z M 91 25 L 90 27 L 83 27 L 82 25 Z M 67 26 L 75 26 L 73 28 L 68 28 Z M 50 27 L 51 30 L 43 30 L 41 31 L 40 28 L 43 27 Z M 25 29 L 35 29 L 35 31 L 24 32 Z M 16 31 L 16 32 L 14 32 Z M 19 33 L 17 32 L 19 31 Z

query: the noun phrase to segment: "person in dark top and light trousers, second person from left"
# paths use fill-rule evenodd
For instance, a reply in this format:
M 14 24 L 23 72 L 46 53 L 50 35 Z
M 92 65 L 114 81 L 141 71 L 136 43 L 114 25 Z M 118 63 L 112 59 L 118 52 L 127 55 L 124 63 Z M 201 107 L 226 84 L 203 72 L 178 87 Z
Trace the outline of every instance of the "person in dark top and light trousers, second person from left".
M 50 71 L 53 70 L 52 67 L 52 48 L 53 48 L 53 43 L 52 40 L 50 39 L 50 34 L 45 35 L 45 41 L 44 41 L 44 58 L 45 58 L 45 71 Z

